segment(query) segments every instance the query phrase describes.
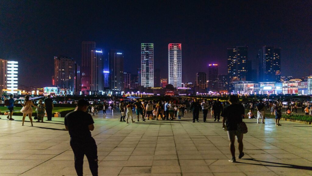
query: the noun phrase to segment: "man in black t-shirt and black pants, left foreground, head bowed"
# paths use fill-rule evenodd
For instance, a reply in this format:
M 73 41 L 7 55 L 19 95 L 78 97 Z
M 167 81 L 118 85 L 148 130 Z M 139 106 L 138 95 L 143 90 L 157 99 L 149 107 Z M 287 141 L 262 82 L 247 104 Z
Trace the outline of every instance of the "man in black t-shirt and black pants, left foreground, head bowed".
M 64 124 L 71 136 L 71 148 L 75 155 L 75 169 L 78 176 L 83 175 L 83 158 L 88 158 L 89 167 L 93 176 L 98 175 L 97 146 L 91 132 L 94 130 L 92 116 L 86 113 L 89 102 L 80 99 L 75 111 L 65 116 Z

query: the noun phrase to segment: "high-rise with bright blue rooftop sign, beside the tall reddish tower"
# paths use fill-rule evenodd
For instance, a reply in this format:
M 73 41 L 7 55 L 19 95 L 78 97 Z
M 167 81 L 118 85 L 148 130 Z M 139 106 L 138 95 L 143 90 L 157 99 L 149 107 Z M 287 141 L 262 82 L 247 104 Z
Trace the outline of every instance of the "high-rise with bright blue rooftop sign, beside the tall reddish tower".
M 96 94 L 103 91 L 104 85 L 103 75 L 103 50 L 91 50 L 91 84 L 90 91 Z

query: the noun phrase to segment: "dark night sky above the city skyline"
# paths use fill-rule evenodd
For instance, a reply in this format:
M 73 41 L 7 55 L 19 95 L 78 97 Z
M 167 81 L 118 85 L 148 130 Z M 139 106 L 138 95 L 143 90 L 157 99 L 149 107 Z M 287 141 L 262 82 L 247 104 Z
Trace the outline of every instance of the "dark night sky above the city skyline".
M 182 82 L 219 64 L 227 48 L 281 48 L 281 75 L 312 74 L 312 1 L 1 1 L 0 58 L 19 62 L 19 84 L 51 85 L 53 57 L 81 63 L 81 42 L 124 50 L 124 71 L 140 67 L 141 43 L 154 43 L 154 69 L 168 77 L 168 44 L 182 43 Z M 107 57 L 107 55 L 105 55 Z

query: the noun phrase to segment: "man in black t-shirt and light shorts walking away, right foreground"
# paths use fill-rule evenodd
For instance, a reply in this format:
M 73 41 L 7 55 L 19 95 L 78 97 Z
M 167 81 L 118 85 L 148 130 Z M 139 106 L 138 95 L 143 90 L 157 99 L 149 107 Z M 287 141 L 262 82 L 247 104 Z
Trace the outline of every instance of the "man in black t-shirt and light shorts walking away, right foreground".
M 229 159 L 230 162 L 236 162 L 235 159 L 235 136 L 238 142 L 239 156 L 241 159 L 244 156 L 243 153 L 243 133 L 237 131 L 237 124 L 242 122 L 242 116 L 245 114 L 244 106 L 237 103 L 237 98 L 234 95 L 229 97 L 230 106 L 226 106 L 222 111 L 222 124 L 223 128 L 227 129 L 227 136 L 230 141 L 230 151 L 232 158 Z

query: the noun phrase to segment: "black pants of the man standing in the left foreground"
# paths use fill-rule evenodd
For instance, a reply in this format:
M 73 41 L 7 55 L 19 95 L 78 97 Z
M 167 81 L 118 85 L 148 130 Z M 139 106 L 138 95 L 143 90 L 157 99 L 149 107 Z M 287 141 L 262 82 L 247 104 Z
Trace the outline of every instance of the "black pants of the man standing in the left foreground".
M 83 175 L 83 158 L 86 156 L 89 162 L 89 168 L 93 176 L 98 175 L 98 157 L 97 157 L 97 146 L 95 140 L 91 137 L 87 141 L 72 140 L 71 148 L 75 155 L 75 169 L 78 176 Z

